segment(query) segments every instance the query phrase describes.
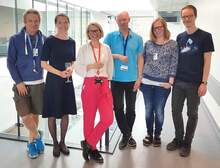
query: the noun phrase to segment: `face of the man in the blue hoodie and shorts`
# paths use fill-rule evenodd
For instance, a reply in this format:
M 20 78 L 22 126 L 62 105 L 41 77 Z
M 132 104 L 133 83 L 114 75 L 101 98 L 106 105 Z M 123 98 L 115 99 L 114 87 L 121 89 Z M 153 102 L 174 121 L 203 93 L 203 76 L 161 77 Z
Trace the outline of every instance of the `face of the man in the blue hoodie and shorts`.
M 24 24 L 26 31 L 31 35 L 35 35 L 39 30 L 40 18 L 36 14 L 29 13 L 24 18 Z

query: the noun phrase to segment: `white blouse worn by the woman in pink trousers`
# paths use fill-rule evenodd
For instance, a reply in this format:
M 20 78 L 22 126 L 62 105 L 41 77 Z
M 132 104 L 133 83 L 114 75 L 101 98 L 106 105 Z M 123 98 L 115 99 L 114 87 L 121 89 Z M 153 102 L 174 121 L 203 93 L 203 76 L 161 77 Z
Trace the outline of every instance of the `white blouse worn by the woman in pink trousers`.
M 96 59 L 98 60 L 99 54 L 98 49 L 95 49 Z M 113 58 L 109 46 L 106 44 L 101 44 L 100 52 L 100 62 L 104 64 L 103 68 L 99 70 L 99 76 L 107 77 L 109 80 L 112 79 L 113 72 Z M 80 47 L 78 55 L 75 62 L 76 73 L 85 78 L 85 77 L 94 77 L 97 76 L 96 69 L 90 69 L 87 71 L 87 65 L 95 63 L 93 56 L 93 51 L 90 43 L 87 43 Z

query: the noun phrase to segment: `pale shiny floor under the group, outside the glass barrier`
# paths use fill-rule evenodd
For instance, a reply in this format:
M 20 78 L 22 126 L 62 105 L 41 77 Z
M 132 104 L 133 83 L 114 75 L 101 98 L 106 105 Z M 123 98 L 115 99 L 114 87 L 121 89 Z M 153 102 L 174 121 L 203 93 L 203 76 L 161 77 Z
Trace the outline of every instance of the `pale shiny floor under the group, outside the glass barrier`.
M 220 140 L 208 119 L 203 106 L 199 110 L 199 123 L 192 145 L 192 153 L 188 158 L 181 158 L 178 151 L 168 152 L 166 144 L 174 135 L 170 115 L 170 100 L 166 107 L 166 116 L 162 134 L 162 146 L 144 147 L 142 138 L 145 136 L 144 105 L 141 97 L 137 101 L 137 118 L 133 136 L 137 140 L 136 149 L 115 150 L 114 154 L 103 154 L 105 163 L 84 162 L 81 150 L 71 149 L 68 157 L 52 156 L 52 147 L 47 146 L 45 153 L 35 160 L 27 157 L 23 142 L 0 140 L 1 168 L 219 168 Z M 184 111 L 185 113 L 185 111 Z

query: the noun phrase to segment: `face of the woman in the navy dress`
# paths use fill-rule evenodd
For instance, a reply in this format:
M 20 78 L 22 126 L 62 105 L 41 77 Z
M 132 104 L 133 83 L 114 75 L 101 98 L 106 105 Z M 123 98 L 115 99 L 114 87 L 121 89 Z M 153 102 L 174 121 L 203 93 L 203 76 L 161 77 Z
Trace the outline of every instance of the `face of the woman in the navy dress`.
M 69 20 L 65 16 L 58 16 L 56 20 L 56 28 L 58 33 L 67 33 L 69 29 Z

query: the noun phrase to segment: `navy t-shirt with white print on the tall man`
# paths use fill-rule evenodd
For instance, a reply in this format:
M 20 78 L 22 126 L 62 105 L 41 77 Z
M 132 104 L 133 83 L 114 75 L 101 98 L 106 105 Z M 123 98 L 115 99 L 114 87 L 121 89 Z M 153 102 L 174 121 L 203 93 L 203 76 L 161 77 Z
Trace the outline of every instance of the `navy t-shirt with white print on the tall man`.
M 177 36 L 179 60 L 176 79 L 199 84 L 202 81 L 204 53 L 214 51 L 212 35 L 201 29 Z

